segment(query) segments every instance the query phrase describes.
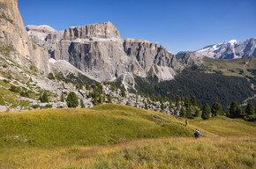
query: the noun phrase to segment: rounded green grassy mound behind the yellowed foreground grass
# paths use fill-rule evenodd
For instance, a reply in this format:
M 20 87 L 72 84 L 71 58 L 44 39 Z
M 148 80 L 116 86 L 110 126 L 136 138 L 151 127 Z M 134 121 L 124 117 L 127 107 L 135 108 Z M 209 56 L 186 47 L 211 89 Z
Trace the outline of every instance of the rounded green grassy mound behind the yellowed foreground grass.
M 0 147 L 111 144 L 160 136 L 192 136 L 192 130 L 166 114 L 112 104 L 0 114 Z

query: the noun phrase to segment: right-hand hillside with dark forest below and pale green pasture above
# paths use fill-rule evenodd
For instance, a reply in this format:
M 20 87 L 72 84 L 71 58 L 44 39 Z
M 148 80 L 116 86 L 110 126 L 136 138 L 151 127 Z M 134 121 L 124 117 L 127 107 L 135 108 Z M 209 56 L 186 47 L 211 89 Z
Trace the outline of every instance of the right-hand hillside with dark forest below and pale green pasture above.
M 204 57 L 203 62 L 203 65 L 183 70 L 169 81 L 159 82 L 155 76 L 136 77 L 135 88 L 150 95 L 161 93 L 170 99 L 177 95 L 195 96 L 199 104 L 219 102 L 224 110 L 232 101 L 255 103 L 256 58 L 217 60 Z

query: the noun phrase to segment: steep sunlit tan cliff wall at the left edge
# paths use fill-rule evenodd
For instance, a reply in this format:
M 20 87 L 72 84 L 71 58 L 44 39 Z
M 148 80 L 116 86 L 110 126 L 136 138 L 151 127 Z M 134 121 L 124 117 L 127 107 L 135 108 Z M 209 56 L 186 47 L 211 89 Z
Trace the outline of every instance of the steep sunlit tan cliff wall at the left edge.
M 17 0 L 0 0 L 0 25 L 1 55 L 27 67 L 34 65 L 48 74 L 48 51 L 28 37 Z

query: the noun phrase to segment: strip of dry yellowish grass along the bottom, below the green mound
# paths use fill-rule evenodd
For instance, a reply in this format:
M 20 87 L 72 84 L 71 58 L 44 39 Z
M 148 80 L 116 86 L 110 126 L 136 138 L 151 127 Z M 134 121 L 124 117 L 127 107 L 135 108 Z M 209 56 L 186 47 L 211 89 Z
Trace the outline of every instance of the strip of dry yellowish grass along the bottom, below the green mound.
M 154 138 L 107 146 L 1 150 L 1 168 L 253 168 L 255 137 Z

